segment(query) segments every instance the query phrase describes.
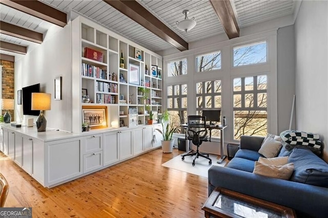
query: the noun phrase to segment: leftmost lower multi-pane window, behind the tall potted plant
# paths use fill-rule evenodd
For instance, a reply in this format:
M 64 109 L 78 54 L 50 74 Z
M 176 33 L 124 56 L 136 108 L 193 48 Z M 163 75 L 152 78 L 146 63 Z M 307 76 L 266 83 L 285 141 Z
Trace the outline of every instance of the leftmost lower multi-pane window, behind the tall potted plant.
M 187 123 L 187 84 L 168 86 L 168 112 L 170 114 L 170 123 L 178 127 L 180 124 Z

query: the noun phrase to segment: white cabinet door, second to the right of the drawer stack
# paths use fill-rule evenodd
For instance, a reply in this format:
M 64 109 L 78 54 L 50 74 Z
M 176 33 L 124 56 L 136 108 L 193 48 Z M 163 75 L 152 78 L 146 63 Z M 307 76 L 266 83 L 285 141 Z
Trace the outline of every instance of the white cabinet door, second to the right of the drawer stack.
M 132 157 L 132 130 L 119 131 L 119 159 Z

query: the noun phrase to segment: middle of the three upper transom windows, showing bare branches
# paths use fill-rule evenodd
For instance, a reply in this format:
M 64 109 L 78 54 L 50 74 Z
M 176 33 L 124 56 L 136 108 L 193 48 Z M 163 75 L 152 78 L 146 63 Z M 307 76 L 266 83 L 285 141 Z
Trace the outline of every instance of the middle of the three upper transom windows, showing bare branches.
M 221 52 L 199 55 L 196 57 L 197 72 L 221 69 Z

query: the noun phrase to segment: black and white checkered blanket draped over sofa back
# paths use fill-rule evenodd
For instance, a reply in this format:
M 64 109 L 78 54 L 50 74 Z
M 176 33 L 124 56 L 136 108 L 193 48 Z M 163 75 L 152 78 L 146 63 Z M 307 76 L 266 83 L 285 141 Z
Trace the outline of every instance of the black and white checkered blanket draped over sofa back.
M 305 133 L 297 130 L 285 130 L 280 133 L 280 138 L 290 145 L 303 145 L 321 149 L 321 141 L 319 140 L 318 134 Z

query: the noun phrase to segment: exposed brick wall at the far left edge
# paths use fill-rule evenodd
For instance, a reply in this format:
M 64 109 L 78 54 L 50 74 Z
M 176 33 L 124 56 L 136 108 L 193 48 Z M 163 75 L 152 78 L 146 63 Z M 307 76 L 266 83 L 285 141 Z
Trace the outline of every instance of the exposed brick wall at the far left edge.
M 2 68 L 2 98 L 5 99 L 14 99 L 14 62 L 7 60 L 0 60 L 0 65 Z M 14 102 L 16 104 L 16 102 Z M 3 110 L 2 114 L 5 114 L 5 110 Z M 14 119 L 14 110 L 9 110 L 11 115 L 11 121 Z

